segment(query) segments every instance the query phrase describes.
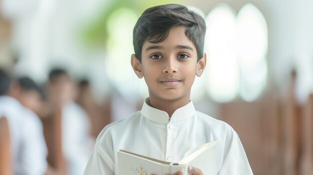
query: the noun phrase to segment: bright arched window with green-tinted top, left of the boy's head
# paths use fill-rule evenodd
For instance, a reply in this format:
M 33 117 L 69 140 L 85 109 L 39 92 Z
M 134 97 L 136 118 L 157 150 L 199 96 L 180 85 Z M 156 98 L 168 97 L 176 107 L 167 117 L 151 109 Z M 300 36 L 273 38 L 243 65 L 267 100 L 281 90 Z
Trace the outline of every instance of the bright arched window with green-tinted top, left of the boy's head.
M 133 53 L 132 30 L 139 16 L 130 8 L 121 7 L 107 20 L 107 57 L 105 70 L 113 86 L 126 99 L 136 99 L 139 82 L 130 66 Z

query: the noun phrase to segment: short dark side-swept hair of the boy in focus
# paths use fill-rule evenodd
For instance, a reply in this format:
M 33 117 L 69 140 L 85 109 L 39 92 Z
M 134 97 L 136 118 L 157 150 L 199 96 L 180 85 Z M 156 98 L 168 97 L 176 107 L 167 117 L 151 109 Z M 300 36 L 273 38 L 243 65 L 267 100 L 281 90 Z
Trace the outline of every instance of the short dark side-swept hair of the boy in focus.
M 195 11 L 179 4 L 157 5 L 147 8 L 133 28 L 133 47 L 136 58 L 141 62 L 144 41 L 159 43 L 168 36 L 170 28 L 182 25 L 185 35 L 194 44 L 197 60 L 202 58 L 205 35 L 205 21 Z

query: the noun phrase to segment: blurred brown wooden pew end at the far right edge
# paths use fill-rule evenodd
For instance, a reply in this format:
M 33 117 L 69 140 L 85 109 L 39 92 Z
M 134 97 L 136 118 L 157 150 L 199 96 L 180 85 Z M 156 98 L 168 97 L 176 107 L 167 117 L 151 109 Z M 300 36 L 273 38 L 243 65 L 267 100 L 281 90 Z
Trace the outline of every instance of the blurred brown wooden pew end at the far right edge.
M 311 175 L 313 172 L 313 94 L 309 95 L 303 108 L 299 175 Z

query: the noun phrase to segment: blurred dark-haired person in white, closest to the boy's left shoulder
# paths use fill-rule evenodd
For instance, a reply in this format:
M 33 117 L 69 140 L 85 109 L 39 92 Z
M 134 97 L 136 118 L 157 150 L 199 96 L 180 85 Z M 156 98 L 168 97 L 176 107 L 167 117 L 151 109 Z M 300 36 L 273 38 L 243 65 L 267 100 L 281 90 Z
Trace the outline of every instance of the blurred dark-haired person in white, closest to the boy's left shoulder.
M 77 87 L 64 69 L 49 73 L 46 87 L 47 101 L 61 108 L 62 151 L 69 175 L 82 175 L 94 139 L 90 136 L 90 122 L 86 112 L 74 102 Z

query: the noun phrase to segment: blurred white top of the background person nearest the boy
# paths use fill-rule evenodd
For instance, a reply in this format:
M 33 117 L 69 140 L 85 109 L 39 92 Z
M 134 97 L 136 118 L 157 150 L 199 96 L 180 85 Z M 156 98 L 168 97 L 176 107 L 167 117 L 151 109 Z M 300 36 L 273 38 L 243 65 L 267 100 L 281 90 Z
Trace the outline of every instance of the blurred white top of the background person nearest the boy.
M 85 111 L 70 102 L 62 109 L 62 150 L 68 165 L 68 175 L 82 175 L 92 151 L 90 122 Z

